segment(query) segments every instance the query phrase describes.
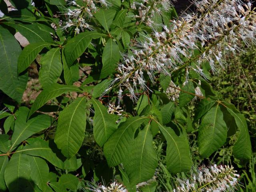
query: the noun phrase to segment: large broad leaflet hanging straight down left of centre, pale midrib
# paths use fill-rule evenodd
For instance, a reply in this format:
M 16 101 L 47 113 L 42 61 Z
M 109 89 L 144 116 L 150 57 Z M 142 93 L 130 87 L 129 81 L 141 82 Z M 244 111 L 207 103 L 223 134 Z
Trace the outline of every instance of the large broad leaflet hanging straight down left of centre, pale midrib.
M 86 127 L 86 97 L 78 97 L 60 113 L 54 142 L 68 159 L 82 146 Z

